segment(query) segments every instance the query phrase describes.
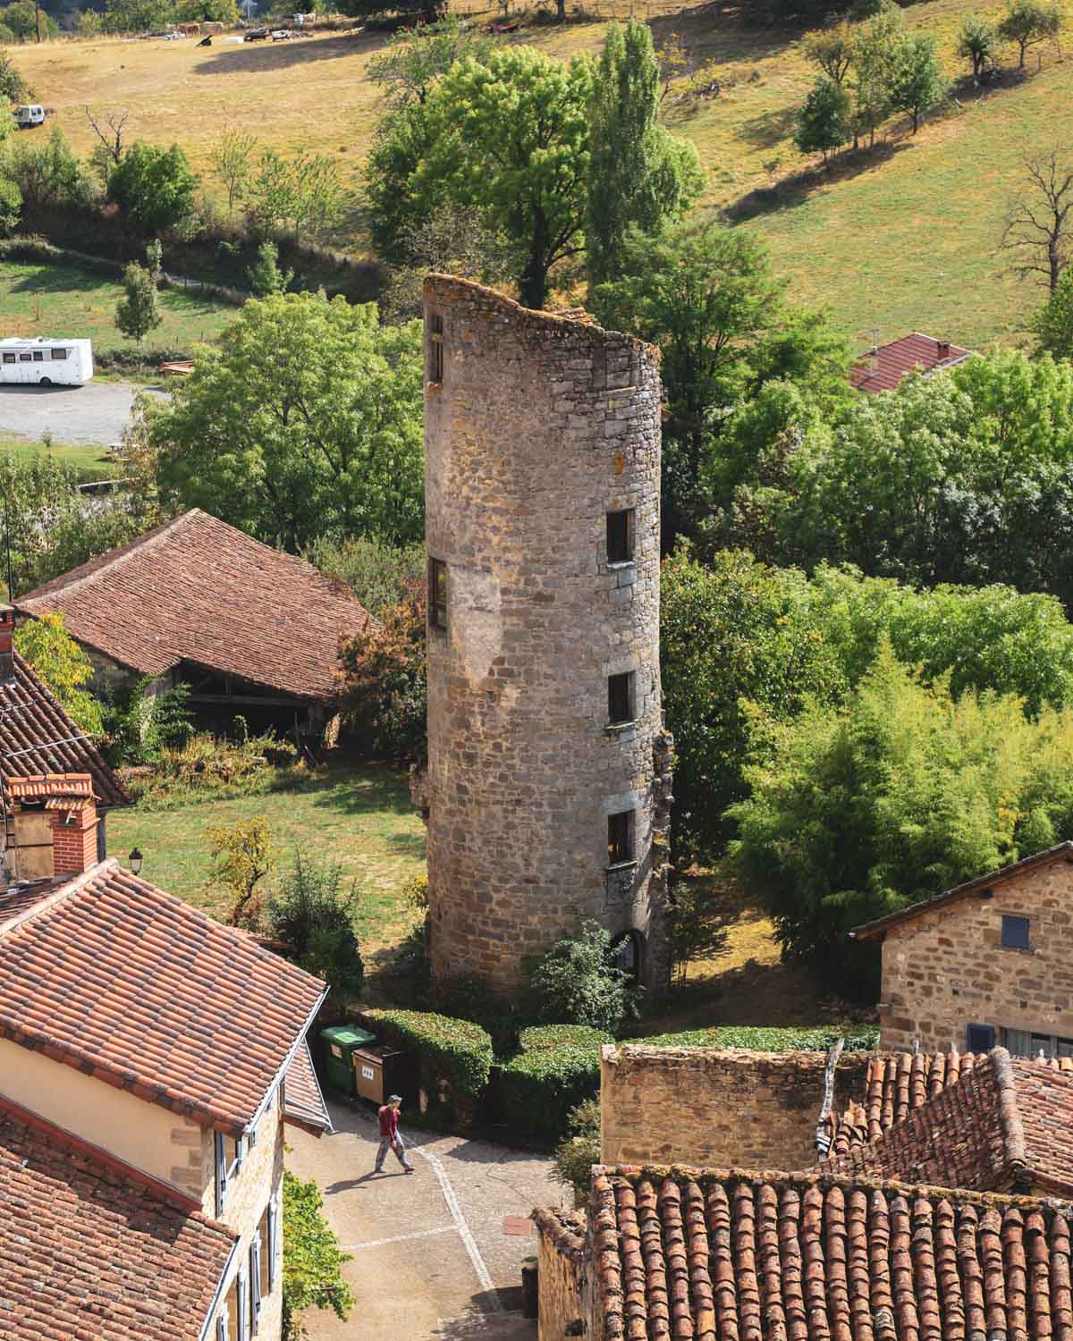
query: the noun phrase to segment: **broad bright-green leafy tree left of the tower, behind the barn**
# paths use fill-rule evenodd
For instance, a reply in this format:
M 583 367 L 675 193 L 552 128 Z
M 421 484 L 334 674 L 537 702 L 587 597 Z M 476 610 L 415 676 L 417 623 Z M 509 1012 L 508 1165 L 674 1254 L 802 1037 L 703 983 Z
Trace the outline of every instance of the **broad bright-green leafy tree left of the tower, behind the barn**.
M 146 420 L 162 500 L 296 551 L 424 534 L 421 327 L 323 294 L 252 299 Z

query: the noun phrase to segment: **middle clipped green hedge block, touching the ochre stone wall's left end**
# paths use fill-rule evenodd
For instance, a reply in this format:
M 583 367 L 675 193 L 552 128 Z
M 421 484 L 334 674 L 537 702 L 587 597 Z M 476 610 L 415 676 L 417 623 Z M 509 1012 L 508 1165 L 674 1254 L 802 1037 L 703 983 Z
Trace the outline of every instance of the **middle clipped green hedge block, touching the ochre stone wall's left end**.
M 503 1109 L 512 1130 L 558 1140 L 570 1109 L 600 1093 L 600 1049 L 614 1039 L 587 1025 L 523 1029 L 522 1051 L 500 1070 Z

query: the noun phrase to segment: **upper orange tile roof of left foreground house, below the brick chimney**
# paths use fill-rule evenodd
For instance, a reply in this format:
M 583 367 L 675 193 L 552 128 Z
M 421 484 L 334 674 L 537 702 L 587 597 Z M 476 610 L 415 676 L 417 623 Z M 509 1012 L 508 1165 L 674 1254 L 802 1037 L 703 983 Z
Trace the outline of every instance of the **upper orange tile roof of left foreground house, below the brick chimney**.
M 0 935 L 0 1037 L 232 1134 L 323 991 L 115 861 Z

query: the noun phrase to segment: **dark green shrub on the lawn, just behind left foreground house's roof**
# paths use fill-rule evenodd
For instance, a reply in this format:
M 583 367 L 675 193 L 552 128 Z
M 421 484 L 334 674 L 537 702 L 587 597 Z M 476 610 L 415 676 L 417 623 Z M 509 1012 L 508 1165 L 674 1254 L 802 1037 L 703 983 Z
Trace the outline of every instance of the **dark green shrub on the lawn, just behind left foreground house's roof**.
M 342 868 L 303 860 L 264 912 L 270 932 L 288 948 L 288 957 L 306 972 L 323 978 L 333 992 L 361 996 L 365 966 L 354 932 L 357 885 L 343 889 Z

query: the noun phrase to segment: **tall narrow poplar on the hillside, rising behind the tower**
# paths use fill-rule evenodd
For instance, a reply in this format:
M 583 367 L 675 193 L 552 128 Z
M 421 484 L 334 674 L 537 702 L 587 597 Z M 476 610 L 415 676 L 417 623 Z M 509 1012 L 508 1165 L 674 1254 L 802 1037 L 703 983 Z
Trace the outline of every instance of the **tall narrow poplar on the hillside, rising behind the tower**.
M 589 286 L 614 279 L 630 227 L 653 233 L 696 198 L 696 150 L 659 123 L 660 66 L 652 34 L 633 19 L 608 28 L 589 98 L 585 241 Z

